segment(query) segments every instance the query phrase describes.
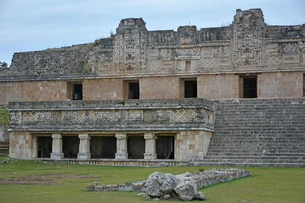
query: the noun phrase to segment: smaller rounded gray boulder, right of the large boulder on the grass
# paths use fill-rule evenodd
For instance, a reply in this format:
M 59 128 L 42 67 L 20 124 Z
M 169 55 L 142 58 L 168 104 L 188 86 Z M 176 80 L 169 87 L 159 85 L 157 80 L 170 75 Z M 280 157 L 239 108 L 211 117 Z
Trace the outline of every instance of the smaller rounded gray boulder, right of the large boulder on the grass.
M 197 186 L 193 181 L 181 181 L 176 187 L 176 193 L 184 201 L 191 201 L 197 192 Z

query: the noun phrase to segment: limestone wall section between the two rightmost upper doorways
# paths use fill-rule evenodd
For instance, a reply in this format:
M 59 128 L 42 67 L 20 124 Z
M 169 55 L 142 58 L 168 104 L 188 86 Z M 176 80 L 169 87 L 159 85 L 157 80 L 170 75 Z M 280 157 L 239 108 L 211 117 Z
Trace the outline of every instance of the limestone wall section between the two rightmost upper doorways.
M 197 85 L 198 97 L 238 98 L 238 76 L 234 74 L 201 75 L 197 78 Z

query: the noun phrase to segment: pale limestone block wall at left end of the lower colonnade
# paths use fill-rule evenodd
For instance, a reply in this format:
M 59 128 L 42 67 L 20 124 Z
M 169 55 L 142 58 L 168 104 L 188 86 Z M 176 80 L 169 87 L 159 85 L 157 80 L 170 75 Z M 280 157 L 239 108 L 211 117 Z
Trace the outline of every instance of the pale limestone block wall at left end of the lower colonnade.
M 36 155 L 36 138 L 27 131 L 10 132 L 10 157 L 34 158 Z

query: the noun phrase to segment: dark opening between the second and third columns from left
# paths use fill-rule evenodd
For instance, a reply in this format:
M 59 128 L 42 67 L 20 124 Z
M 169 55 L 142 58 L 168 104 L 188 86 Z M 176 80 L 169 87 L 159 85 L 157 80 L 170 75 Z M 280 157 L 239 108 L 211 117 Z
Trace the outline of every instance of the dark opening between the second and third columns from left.
M 92 136 L 90 140 L 91 158 L 115 158 L 116 138 L 114 136 Z

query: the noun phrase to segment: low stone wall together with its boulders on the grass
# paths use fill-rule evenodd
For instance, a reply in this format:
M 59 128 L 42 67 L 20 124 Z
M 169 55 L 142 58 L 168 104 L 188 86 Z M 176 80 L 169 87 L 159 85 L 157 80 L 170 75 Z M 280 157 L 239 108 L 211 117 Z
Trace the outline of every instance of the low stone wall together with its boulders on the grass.
M 117 185 L 98 185 L 89 183 L 86 187 L 87 191 L 134 191 L 140 192 L 138 196 L 147 196 L 146 199 L 154 200 L 169 199 L 171 197 L 180 198 L 184 201 L 193 199 L 205 200 L 203 192 L 197 192 L 197 189 L 214 185 L 218 183 L 228 182 L 241 177 L 250 176 L 251 172 L 243 168 L 211 168 L 210 170 L 199 173 L 187 172 L 184 176 L 176 178 L 172 174 L 163 174 L 154 172 L 150 174 L 147 181 Z M 145 192 L 145 193 L 144 193 Z

